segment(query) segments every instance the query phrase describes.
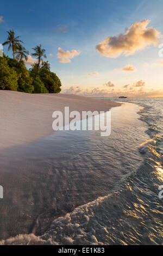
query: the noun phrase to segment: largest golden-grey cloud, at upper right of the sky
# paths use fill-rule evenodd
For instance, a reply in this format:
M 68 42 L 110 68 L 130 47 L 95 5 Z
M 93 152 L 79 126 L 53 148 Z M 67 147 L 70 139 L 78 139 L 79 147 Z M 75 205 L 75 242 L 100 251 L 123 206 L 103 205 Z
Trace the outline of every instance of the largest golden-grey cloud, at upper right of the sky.
M 124 34 L 109 36 L 96 46 L 103 56 L 117 58 L 121 54 L 129 56 L 149 45 L 157 45 L 160 32 L 147 25 L 149 20 L 135 22 Z

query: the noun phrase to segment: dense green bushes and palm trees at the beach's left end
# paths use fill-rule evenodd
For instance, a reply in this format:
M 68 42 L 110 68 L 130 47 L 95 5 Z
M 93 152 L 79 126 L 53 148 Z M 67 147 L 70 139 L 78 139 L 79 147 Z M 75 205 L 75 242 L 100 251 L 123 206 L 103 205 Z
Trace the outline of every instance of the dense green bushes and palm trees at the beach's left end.
M 28 59 L 29 52 L 25 47 L 20 36 L 15 37 L 12 29 L 8 32 L 7 41 L 3 45 L 9 45 L 8 51 L 12 50 L 13 58 L 0 57 L 0 89 L 16 90 L 24 93 L 59 93 L 61 82 L 58 76 L 52 72 L 51 65 L 46 58 L 45 49 L 41 45 L 32 48 L 32 56 L 37 58 L 37 63 L 32 65 L 29 70 L 24 61 Z

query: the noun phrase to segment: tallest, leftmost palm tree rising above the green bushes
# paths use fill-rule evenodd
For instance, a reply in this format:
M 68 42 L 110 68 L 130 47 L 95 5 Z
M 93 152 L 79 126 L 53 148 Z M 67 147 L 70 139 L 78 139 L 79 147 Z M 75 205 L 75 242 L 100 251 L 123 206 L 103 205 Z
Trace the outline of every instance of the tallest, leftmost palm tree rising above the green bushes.
M 7 41 L 5 41 L 3 43 L 3 45 L 9 45 L 8 47 L 8 51 L 12 48 L 12 53 L 13 53 L 13 58 L 15 59 L 15 52 L 18 48 L 18 46 L 20 45 L 20 43 L 23 41 L 22 40 L 19 40 L 18 38 L 20 38 L 20 36 L 16 36 L 15 37 L 15 32 L 14 30 L 10 29 L 10 31 L 8 31 L 8 38 L 7 38 Z

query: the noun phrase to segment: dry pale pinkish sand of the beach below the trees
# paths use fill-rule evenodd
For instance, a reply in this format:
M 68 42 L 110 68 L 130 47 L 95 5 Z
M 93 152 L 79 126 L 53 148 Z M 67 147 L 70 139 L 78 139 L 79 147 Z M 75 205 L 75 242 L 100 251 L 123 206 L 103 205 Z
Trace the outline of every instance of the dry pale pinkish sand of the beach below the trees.
M 108 111 L 120 106 L 113 101 L 73 94 L 27 94 L 0 90 L 0 149 L 32 142 L 53 132 L 52 113 L 62 111 Z

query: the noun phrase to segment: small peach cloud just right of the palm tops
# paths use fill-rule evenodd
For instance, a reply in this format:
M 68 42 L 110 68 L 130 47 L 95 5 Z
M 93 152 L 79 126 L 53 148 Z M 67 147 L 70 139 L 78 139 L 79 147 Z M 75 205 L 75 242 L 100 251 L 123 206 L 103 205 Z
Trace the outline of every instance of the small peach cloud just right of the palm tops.
M 72 50 L 72 51 L 64 51 L 60 47 L 58 48 L 58 58 L 59 62 L 61 63 L 70 63 L 71 59 L 75 56 L 78 56 L 81 53 L 81 51 Z

